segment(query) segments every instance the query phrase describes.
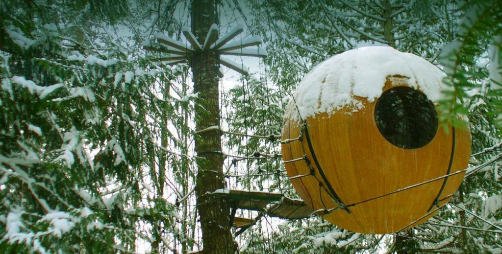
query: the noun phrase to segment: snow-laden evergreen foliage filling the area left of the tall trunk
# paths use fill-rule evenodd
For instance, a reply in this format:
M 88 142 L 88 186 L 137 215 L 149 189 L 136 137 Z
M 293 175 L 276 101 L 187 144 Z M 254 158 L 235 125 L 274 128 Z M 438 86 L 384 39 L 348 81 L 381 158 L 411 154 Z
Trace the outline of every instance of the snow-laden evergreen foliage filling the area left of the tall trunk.
M 187 95 L 176 88 L 187 69 L 138 55 L 151 20 L 120 20 L 149 6 L 106 3 L 2 2 L 2 252 L 135 252 L 160 234 L 179 238 L 159 232 L 174 232 L 182 211 L 164 199 L 171 172 L 160 165 L 187 172 L 191 164 L 171 151 L 190 133 L 176 115 L 190 110 L 176 99 Z M 93 23 L 97 13 L 105 20 Z M 112 24 L 138 34 L 110 36 Z M 168 125 L 182 127 L 173 135 Z M 185 195 L 189 181 L 175 175 Z

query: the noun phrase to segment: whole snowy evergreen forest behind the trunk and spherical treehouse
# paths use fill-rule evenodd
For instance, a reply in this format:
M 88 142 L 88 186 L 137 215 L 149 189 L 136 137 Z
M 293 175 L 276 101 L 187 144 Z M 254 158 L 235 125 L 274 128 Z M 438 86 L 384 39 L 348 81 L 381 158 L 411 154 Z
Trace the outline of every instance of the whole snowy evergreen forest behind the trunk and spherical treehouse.
M 203 98 L 190 62 L 166 64 L 162 53 L 145 49 L 157 33 L 188 45 L 183 31 L 202 2 L 0 2 L 1 252 L 187 253 L 208 244 L 196 190 Z M 235 40 L 261 36 L 268 53 L 258 62 L 233 58 L 252 64 L 251 75 L 222 68 L 216 78 L 224 187 L 297 197 L 276 156 L 284 108 L 315 65 L 366 45 L 416 54 L 447 74 L 452 90 L 439 106 L 441 124 L 466 128 L 456 116 L 469 117 L 475 169 L 452 205 L 412 230 L 361 235 L 316 216 L 286 221 L 238 210 L 263 217 L 234 238 L 236 245 L 235 229 L 224 225 L 232 241 L 214 247 L 502 253 L 500 2 L 212 5 L 220 35 L 241 23 L 245 33 Z M 230 212 L 218 216 L 228 220 Z

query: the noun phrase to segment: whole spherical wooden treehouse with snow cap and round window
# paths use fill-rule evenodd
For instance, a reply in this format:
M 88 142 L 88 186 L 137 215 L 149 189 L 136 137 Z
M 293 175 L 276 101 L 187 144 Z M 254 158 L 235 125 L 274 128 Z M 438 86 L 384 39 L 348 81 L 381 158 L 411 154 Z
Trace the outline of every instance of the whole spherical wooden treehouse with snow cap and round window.
M 438 126 L 444 74 L 391 47 L 316 66 L 286 109 L 282 153 L 298 194 L 342 228 L 393 233 L 448 202 L 470 156 L 468 130 Z

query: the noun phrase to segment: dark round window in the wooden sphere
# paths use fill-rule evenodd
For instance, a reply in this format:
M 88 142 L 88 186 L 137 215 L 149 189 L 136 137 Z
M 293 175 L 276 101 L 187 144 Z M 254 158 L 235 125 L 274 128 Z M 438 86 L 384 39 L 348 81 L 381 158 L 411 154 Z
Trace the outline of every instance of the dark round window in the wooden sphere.
M 417 149 L 436 135 L 438 116 L 427 96 L 410 87 L 394 87 L 376 101 L 374 117 L 380 133 L 392 144 Z

